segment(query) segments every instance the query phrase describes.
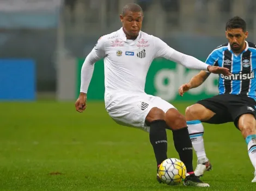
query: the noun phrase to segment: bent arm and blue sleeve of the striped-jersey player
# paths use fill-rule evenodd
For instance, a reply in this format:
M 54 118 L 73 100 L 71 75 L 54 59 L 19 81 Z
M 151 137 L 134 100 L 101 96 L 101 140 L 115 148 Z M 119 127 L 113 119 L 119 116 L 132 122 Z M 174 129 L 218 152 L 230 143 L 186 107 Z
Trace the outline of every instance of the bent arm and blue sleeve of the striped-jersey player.
M 212 52 L 208 58 L 206 59 L 206 63 L 211 66 L 215 66 L 218 61 L 218 55 L 214 51 Z M 190 90 L 191 88 L 195 88 L 203 84 L 203 82 L 209 77 L 211 73 L 206 71 L 201 71 L 197 75 L 195 75 L 187 84 L 183 84 L 179 87 L 179 94 L 183 96 L 185 92 Z

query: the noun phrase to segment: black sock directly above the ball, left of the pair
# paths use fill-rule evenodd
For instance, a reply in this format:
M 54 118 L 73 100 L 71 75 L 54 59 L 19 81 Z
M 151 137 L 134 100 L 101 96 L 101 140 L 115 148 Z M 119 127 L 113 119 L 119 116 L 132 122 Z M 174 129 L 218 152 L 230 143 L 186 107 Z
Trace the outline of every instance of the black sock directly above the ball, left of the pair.
M 150 123 L 149 139 L 153 146 L 157 166 L 167 159 L 166 122 L 154 120 Z

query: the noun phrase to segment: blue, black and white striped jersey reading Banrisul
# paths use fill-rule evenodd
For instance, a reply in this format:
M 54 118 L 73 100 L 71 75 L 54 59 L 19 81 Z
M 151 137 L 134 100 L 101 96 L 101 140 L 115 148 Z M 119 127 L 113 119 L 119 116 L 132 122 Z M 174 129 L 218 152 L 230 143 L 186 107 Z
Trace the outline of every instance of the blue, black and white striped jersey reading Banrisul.
M 205 61 L 209 65 L 229 68 L 232 75 L 219 75 L 220 94 L 243 94 L 256 100 L 256 45 L 246 41 L 246 49 L 234 54 L 229 43 L 217 47 Z

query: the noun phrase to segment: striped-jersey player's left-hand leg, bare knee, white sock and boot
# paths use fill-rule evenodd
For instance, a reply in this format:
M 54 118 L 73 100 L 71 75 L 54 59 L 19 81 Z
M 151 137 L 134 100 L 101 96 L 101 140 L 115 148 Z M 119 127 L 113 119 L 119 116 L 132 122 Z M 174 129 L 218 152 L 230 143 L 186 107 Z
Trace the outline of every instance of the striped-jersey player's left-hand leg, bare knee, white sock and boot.
M 206 157 L 204 148 L 204 126 L 201 121 L 208 121 L 214 117 L 215 113 L 206 109 L 201 104 L 194 104 L 188 106 L 185 112 L 188 132 L 193 145 L 194 151 L 197 155 L 197 168 L 194 171 L 196 176 L 202 176 L 206 170 L 211 169 L 209 159 Z

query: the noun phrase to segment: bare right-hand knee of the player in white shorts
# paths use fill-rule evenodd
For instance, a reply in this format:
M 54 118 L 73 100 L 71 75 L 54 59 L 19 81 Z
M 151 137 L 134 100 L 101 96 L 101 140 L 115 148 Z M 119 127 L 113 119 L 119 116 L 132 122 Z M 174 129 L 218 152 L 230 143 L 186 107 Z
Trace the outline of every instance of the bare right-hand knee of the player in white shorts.
M 178 130 L 187 126 L 185 117 L 175 109 L 166 112 L 166 123 L 172 130 Z

